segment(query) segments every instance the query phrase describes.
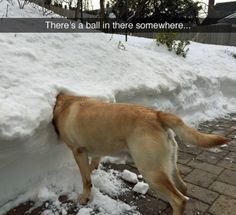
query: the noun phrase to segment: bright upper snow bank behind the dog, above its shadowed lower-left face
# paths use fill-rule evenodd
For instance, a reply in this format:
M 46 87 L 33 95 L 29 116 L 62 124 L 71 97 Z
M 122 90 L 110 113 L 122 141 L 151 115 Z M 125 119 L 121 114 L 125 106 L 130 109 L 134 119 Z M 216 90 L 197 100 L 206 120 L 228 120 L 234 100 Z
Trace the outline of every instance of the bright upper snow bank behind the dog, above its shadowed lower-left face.
M 48 125 L 61 89 L 157 107 L 189 122 L 235 107 L 236 60 L 226 47 L 192 43 L 183 59 L 152 40 L 130 37 L 127 51 L 121 51 L 116 47 L 121 37 L 109 39 L 104 34 L 0 35 L 0 136 L 28 138 Z

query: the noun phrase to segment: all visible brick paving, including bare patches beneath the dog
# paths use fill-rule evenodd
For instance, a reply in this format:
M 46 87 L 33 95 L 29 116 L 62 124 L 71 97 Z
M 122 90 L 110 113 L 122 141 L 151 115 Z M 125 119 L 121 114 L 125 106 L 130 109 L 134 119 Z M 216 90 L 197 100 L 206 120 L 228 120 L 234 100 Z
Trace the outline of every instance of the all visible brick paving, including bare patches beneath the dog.
M 234 215 L 236 214 L 236 114 L 231 114 L 227 119 L 216 119 L 204 122 L 199 130 L 206 133 L 220 134 L 230 138 L 231 144 L 212 150 L 203 150 L 199 147 L 179 144 L 178 165 L 183 174 L 184 181 L 188 184 L 190 200 L 185 210 L 186 215 Z M 137 169 L 130 165 L 106 165 L 106 168 L 117 170 Z M 127 186 L 131 186 L 127 183 Z M 133 185 L 132 185 L 133 186 Z M 132 190 L 120 196 L 119 199 L 128 204 L 137 206 L 142 215 L 172 215 L 170 206 L 163 200 L 154 196 L 152 191 L 143 197 Z M 66 197 L 59 198 L 66 202 Z M 23 215 L 33 202 L 26 202 L 12 209 L 7 215 Z M 76 214 L 76 205 L 67 211 Z M 31 215 L 40 214 L 44 206 L 31 211 Z

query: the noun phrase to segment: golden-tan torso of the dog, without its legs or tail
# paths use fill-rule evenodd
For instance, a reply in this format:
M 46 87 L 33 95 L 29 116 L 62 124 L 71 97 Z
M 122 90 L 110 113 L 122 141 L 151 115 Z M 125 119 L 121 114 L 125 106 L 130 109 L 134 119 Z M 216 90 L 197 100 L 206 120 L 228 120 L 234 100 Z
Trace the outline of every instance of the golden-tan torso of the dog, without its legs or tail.
M 88 97 L 59 95 L 54 125 L 69 146 L 109 155 L 127 147 L 137 133 L 163 132 L 156 111 L 131 104 L 101 102 Z

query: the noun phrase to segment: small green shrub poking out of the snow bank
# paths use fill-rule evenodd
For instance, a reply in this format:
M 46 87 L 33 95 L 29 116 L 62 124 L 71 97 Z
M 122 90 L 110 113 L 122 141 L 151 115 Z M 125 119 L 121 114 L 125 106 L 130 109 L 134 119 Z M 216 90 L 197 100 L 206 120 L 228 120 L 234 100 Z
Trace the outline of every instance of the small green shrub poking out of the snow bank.
M 161 32 L 156 36 L 157 44 L 164 44 L 169 51 L 174 51 L 177 55 L 186 57 L 189 48 L 186 48 L 190 42 L 189 40 L 176 40 L 175 32 Z

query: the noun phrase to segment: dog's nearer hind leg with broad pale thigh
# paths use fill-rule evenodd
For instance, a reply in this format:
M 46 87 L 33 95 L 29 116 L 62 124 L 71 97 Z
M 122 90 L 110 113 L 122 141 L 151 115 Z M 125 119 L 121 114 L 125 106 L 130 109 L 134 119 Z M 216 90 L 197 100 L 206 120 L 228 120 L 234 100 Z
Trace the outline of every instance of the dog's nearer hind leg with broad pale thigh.
M 170 203 L 173 215 L 182 215 L 186 197 L 178 190 L 172 176 L 173 146 L 162 134 L 136 135 L 128 143 L 134 162 L 144 179 Z

